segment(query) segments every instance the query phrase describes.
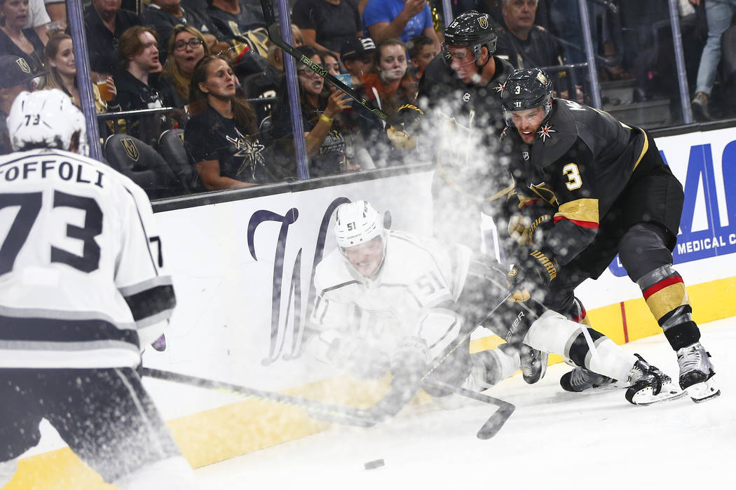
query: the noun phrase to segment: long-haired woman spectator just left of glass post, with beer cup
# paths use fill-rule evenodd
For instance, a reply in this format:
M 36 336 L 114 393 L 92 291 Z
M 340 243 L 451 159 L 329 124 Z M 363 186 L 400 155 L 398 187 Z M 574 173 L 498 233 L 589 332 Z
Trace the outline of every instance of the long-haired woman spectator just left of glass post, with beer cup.
M 66 32 L 51 32 L 49 43 L 46 43 L 45 54 L 49 73 L 46 76 L 46 84 L 43 85 L 43 88 L 62 90 L 71 98 L 75 106 L 82 107 L 79 88 L 77 88 L 77 64 L 74 62 L 71 37 Z M 112 76 L 107 77 L 107 90 L 113 94 L 114 101 L 117 89 Z M 107 112 L 108 104 L 102 100 L 96 84 L 92 84 L 92 91 L 97 112 Z M 117 109 L 118 107 L 117 102 L 113 102 L 110 109 Z

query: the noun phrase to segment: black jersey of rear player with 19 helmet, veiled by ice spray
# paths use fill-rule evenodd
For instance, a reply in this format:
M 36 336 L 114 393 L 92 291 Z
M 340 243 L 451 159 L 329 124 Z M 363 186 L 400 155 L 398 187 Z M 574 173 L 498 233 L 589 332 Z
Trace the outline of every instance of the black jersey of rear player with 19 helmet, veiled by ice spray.
M 434 233 L 478 250 L 480 215 L 495 215 L 495 198 L 509 188 L 499 144 L 503 129 L 500 86 L 513 73 L 509 62 L 494 57 L 495 73 L 483 87 L 465 84 L 437 55 L 419 85 L 417 104 L 428 120 L 420 137 L 436 156 L 432 184 Z

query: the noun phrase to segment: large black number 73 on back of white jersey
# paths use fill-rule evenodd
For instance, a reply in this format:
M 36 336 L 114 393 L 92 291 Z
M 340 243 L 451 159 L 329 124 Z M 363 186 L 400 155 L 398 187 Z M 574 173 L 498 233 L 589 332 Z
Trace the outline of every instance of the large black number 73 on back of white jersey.
M 15 257 L 21 252 L 38 217 L 42 198 L 41 192 L 0 194 L 0 209 L 20 206 L 0 248 L 0 275 L 13 270 Z M 66 224 L 66 236 L 82 241 L 82 256 L 51 245 L 51 262 L 67 264 L 83 273 L 96 270 L 99 267 L 99 245 L 94 241 L 94 237 L 102 233 L 102 209 L 99 209 L 97 201 L 54 190 L 53 206 L 81 209 L 85 212 L 85 226 L 80 228 L 71 223 Z

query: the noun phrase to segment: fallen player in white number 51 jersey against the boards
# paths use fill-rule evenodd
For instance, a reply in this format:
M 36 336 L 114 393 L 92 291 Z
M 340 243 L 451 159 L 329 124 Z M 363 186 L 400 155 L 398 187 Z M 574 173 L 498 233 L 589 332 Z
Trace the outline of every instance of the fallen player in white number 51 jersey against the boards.
M 319 331 L 319 359 L 363 378 L 432 370 L 445 383 L 484 389 L 512 375 L 520 363 L 516 351 L 503 346 L 470 355 L 466 334 L 482 324 L 513 345 L 523 342 L 629 381 L 630 403 L 682 395 L 656 367 L 554 311 L 534 313 L 505 301 L 489 315 L 503 298 L 504 274 L 471 261 L 464 246 L 448 250 L 432 239 L 386 230 L 367 201 L 339 206 L 334 230 L 338 249 L 318 264 L 314 276 L 311 323 Z M 438 401 L 447 395 L 428 394 Z

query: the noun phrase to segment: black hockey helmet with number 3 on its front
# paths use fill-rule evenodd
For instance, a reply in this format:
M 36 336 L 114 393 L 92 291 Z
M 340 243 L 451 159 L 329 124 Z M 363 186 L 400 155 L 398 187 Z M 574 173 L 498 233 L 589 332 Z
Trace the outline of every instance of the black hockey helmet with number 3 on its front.
M 552 81 L 539 68 L 517 70 L 503 82 L 500 96 L 503 116 L 509 126 L 510 113 L 514 111 L 544 106 L 547 116 L 552 109 Z

